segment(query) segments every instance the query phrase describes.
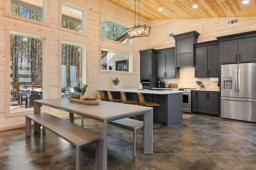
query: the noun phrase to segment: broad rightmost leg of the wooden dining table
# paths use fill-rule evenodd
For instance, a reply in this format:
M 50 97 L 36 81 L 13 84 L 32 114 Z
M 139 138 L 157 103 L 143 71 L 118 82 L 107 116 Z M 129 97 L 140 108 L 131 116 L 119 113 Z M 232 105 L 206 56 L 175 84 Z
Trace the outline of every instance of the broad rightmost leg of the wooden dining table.
M 144 112 L 143 153 L 153 153 L 153 109 Z

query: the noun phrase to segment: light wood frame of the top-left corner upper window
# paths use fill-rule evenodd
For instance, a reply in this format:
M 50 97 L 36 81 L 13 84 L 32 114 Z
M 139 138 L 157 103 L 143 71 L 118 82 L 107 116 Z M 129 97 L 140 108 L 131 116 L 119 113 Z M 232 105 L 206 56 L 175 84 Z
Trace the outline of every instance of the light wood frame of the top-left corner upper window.
M 49 20 L 49 18 L 50 18 L 49 17 L 50 0 L 42 0 L 42 1 L 43 1 L 43 4 L 42 4 L 42 6 L 43 6 L 43 21 L 36 21 L 36 20 L 29 19 L 29 18 L 24 18 L 22 16 L 17 16 L 17 15 L 11 14 L 10 13 L 10 4 L 11 4 L 10 0 L 5 0 L 5 16 L 49 27 L 50 26 L 50 20 Z

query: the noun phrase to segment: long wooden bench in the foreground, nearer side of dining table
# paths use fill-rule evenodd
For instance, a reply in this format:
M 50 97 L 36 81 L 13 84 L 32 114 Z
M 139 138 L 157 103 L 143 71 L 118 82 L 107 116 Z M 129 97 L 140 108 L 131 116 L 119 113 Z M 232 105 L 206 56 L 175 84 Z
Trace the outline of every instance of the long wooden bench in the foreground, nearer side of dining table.
M 103 135 L 48 113 L 26 115 L 26 136 L 31 136 L 31 120 L 76 146 L 76 170 L 81 166 L 81 147 L 96 143 L 95 169 L 103 169 Z

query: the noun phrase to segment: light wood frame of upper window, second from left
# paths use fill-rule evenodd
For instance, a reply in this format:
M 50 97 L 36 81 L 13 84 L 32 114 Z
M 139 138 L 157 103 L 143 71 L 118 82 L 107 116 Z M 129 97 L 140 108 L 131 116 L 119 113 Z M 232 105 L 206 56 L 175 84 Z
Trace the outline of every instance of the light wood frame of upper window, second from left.
M 62 5 L 66 5 L 70 8 L 74 8 L 76 10 L 79 10 L 82 12 L 82 32 L 78 32 L 78 31 L 75 31 L 75 30 L 72 30 L 72 29 L 68 29 L 68 28 L 64 28 L 62 27 Z M 59 30 L 62 30 L 62 31 L 68 31 L 68 32 L 71 32 L 71 33 L 75 33 L 75 34 L 80 34 L 80 35 L 86 35 L 86 25 L 87 25 L 87 11 L 76 5 L 76 4 L 73 4 L 71 2 L 68 2 L 67 0 L 59 0 Z

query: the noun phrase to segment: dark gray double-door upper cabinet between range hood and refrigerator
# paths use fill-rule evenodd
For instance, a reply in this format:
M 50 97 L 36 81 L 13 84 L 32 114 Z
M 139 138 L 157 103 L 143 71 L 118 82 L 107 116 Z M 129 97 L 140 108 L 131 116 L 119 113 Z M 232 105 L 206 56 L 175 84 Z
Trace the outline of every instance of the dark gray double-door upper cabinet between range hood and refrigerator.
M 217 40 L 195 44 L 195 77 L 220 76 L 220 47 Z

